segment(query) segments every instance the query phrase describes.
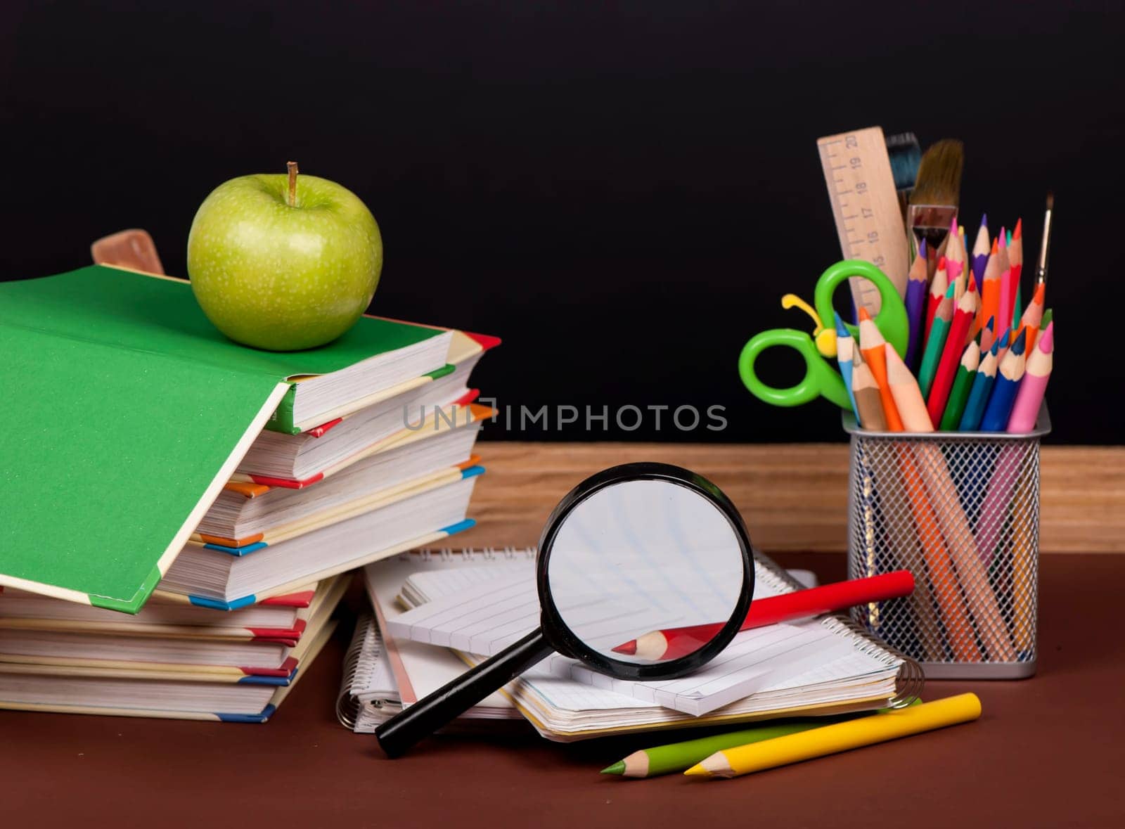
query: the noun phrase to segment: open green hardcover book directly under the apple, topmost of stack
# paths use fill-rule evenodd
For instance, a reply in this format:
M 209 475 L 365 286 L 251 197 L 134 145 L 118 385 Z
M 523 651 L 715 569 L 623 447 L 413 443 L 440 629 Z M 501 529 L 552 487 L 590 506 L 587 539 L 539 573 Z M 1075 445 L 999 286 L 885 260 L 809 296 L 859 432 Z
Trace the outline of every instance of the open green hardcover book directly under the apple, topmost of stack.
M 0 585 L 135 613 L 271 417 L 315 425 L 441 368 L 450 337 L 363 317 L 274 353 L 224 337 L 182 280 L 0 285 Z

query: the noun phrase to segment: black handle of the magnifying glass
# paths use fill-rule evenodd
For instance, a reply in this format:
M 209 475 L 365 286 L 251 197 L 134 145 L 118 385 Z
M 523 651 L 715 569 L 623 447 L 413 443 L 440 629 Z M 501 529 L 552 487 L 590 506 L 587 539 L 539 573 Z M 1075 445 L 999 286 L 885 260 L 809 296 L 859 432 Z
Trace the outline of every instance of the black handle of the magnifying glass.
M 387 757 L 398 757 L 554 652 L 541 628 L 529 633 L 379 726 L 379 747 Z

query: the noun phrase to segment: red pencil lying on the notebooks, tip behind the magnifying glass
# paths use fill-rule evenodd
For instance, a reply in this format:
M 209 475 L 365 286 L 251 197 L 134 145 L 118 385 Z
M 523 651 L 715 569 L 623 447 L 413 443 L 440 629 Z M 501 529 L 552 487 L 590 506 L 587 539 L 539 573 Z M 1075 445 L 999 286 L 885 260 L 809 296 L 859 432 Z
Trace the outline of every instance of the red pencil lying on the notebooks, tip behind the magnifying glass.
M 783 593 L 780 596 L 770 596 L 752 602 L 746 621 L 742 622 L 739 630 L 819 616 L 821 613 L 832 613 L 857 604 L 909 596 L 912 592 L 914 576 L 910 570 L 896 570 L 881 576 L 868 576 L 852 582 L 836 582 L 820 587 L 811 587 L 807 591 Z M 641 659 L 678 659 L 699 650 L 711 641 L 722 628 L 722 623 L 714 623 L 654 630 L 624 645 L 619 645 L 613 650 L 618 654 L 638 656 Z

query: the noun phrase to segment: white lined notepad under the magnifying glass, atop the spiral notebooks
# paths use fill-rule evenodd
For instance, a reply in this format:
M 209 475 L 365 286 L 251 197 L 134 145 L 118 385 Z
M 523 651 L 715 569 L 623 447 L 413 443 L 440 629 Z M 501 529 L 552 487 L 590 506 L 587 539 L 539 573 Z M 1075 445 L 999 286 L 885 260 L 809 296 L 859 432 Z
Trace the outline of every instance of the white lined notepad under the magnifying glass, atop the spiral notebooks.
M 758 564 L 755 596 L 783 592 L 786 585 Z M 490 656 L 539 625 L 534 570 L 525 562 L 415 574 L 404 584 L 402 595 L 404 601 L 418 606 L 388 620 L 386 630 L 396 639 Z M 771 690 L 799 687 L 796 683 L 806 679 L 816 683 L 879 676 L 884 682 L 891 681 L 888 693 L 891 696 L 900 660 L 888 656 L 857 649 L 854 634 L 838 621 L 818 620 L 744 631 L 701 670 L 678 679 L 616 679 L 560 655 L 548 657 L 523 678 L 565 681 L 566 685 L 550 688 L 549 697 L 564 706 L 588 703 L 587 699 L 565 697 L 575 691 L 574 685 L 584 685 L 700 717 Z M 810 676 L 816 669 L 837 663 L 837 668 L 819 679 Z

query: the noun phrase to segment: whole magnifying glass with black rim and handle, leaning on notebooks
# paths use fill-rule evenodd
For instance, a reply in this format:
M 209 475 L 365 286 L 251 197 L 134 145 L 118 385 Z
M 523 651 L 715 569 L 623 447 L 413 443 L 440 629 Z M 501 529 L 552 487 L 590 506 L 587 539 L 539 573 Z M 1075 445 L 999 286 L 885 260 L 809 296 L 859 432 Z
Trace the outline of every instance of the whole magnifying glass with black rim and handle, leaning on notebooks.
M 622 679 L 673 679 L 714 658 L 754 593 L 746 526 L 714 484 L 667 463 L 626 463 L 572 489 L 547 520 L 536 562 L 540 627 L 379 726 L 388 757 L 555 652 Z M 706 625 L 674 659 L 622 642 Z M 616 650 L 615 650 L 616 648 Z

